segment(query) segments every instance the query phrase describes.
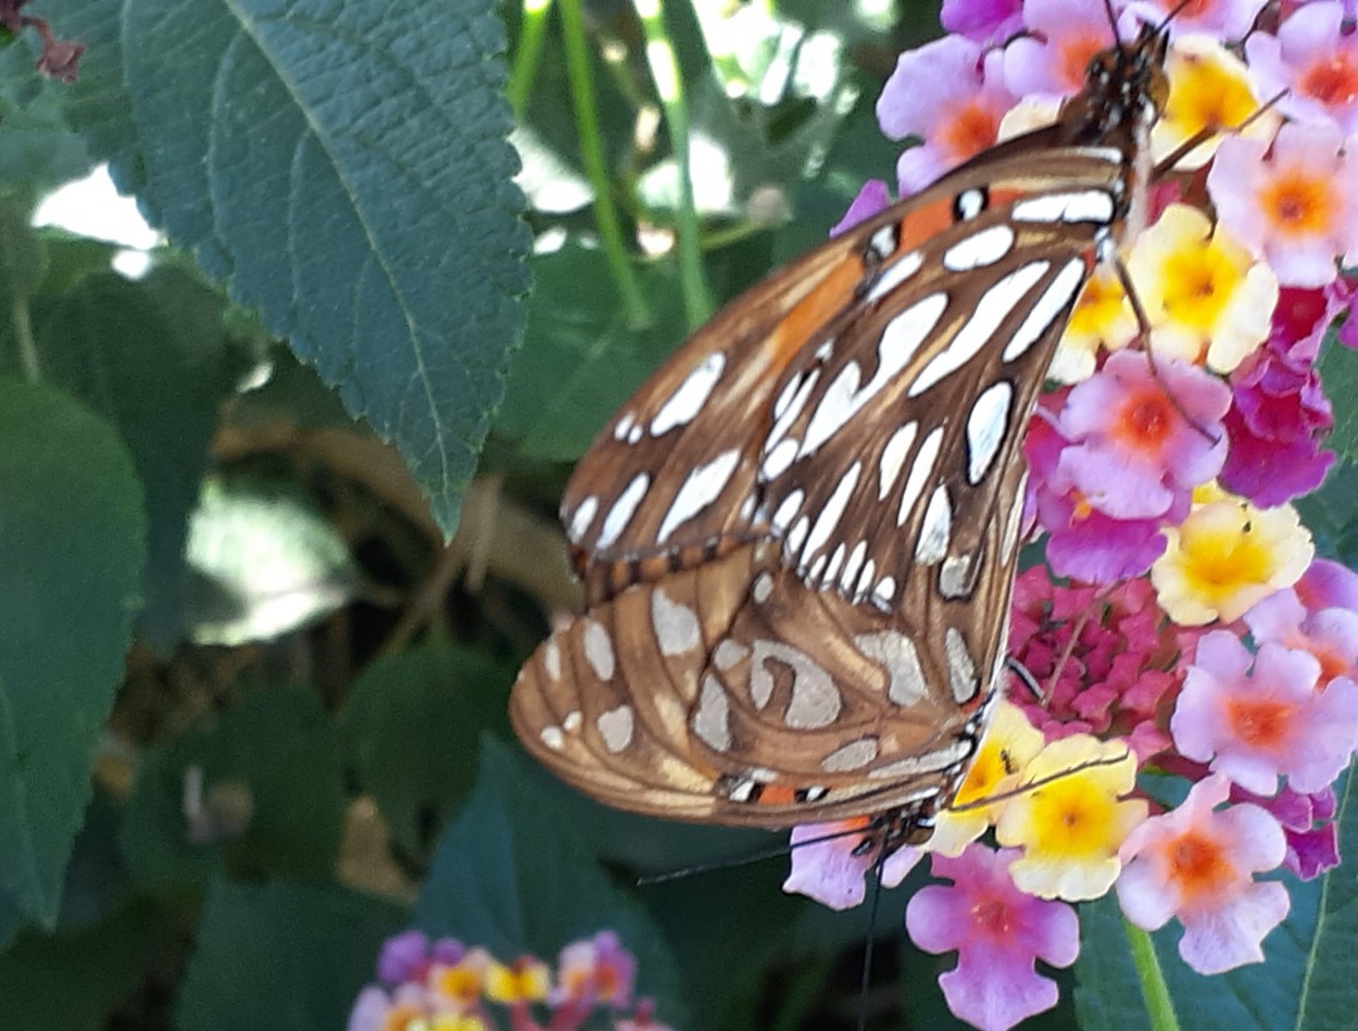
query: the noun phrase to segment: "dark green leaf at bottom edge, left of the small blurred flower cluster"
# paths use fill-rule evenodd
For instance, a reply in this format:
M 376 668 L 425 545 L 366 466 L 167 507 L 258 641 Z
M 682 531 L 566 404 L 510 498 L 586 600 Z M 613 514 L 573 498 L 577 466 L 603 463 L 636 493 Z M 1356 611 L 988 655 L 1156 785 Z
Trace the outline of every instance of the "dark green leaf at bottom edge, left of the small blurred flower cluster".
M 335 1031 L 403 909 L 330 884 L 232 884 L 208 892 L 175 1011 L 182 1031 Z

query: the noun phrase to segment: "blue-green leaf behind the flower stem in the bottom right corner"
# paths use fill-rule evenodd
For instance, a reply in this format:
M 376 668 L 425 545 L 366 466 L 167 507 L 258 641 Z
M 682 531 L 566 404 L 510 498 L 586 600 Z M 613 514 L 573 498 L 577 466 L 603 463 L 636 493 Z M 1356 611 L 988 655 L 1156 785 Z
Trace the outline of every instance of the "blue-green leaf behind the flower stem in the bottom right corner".
M 1340 853 L 1358 856 L 1358 812 L 1346 777 L 1340 782 Z M 1296 1027 L 1308 1031 L 1351 1027 L 1353 956 L 1358 948 L 1358 890 L 1344 865 L 1324 878 L 1283 878 L 1291 911 L 1263 943 L 1264 963 L 1217 977 L 1200 977 L 1179 958 L 1181 928 L 1176 921 L 1156 932 L 1156 954 L 1183 1027 L 1195 1031 L 1245 1031 Z M 1122 917 L 1112 899 L 1084 905 L 1076 973 L 1077 1005 L 1084 1028 L 1149 1028 L 1141 986 L 1127 954 Z

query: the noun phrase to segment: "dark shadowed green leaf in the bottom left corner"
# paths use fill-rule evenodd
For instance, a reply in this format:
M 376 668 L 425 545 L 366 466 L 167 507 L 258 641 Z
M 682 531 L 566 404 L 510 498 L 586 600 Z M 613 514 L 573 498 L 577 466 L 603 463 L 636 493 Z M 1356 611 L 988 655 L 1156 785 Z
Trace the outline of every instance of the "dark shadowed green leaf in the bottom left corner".
M 77 932 L 24 930 L 0 955 L 5 1031 L 102 1031 L 141 985 L 171 933 L 148 906 L 129 906 Z

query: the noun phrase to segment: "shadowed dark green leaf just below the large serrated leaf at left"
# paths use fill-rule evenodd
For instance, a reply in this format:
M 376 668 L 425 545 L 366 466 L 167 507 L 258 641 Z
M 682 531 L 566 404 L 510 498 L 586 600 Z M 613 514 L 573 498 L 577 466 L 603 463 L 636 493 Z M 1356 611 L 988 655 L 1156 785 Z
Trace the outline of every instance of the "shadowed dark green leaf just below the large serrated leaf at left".
M 56 253 L 71 264 L 79 259 L 72 250 Z M 224 308 L 216 291 L 164 264 L 137 283 L 87 273 L 33 306 L 43 376 L 118 428 L 145 484 L 149 562 L 139 629 L 162 651 L 183 629 L 185 537 L 217 408 L 246 368 L 223 331 Z

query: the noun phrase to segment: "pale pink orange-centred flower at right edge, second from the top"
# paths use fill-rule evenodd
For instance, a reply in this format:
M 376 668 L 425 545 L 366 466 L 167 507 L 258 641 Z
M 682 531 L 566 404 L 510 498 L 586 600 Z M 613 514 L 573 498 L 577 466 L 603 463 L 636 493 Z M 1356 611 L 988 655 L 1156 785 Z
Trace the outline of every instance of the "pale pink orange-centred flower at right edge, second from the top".
M 1283 125 L 1270 151 L 1229 136 L 1207 173 L 1221 224 L 1287 287 L 1324 287 L 1358 262 L 1358 166 L 1331 125 Z M 1267 159 L 1266 155 L 1267 153 Z

